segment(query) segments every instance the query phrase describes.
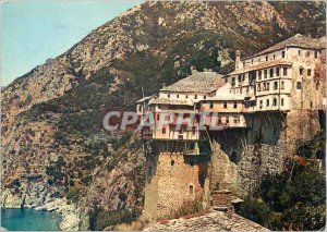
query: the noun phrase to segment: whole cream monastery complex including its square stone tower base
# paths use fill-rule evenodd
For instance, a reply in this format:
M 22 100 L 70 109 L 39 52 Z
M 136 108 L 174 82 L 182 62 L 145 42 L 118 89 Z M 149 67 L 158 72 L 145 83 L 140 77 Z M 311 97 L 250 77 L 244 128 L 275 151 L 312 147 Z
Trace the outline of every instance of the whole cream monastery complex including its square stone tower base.
M 229 154 L 232 162 L 238 160 L 238 152 L 243 149 L 238 149 L 238 146 L 246 146 L 241 136 L 246 132 L 249 137 L 254 134 L 253 122 L 258 121 L 257 118 L 270 119 L 269 114 L 284 117 L 292 114 L 289 112 L 292 110 L 312 112 L 311 109 L 325 109 L 324 41 L 325 38 L 295 35 L 245 59 L 241 59 L 241 52 L 237 51 L 235 70 L 228 75 L 195 72 L 164 87 L 157 95 L 138 100 L 140 119 L 148 113 L 155 123 L 154 130 L 142 130 L 147 160 L 145 216 L 153 219 L 167 216 L 189 200 L 203 199 L 203 204 L 207 205 L 214 172 L 218 173 L 216 184 L 219 188 L 234 188 L 239 184 L 234 181 L 238 170 L 222 154 Z M 191 129 L 182 123 L 177 130 L 177 121 L 158 129 L 158 120 L 164 113 L 183 113 L 185 119 L 193 114 L 196 120 Z M 225 131 L 199 131 L 201 113 L 206 114 L 205 129 L 218 125 Z M 271 127 L 274 132 L 271 135 L 267 133 L 267 141 L 278 134 L 272 123 Z M 255 134 L 261 135 L 262 129 L 256 130 Z M 215 144 L 211 146 L 211 138 L 231 142 L 223 150 L 223 144 L 220 148 L 215 148 Z M 237 139 L 241 143 L 238 144 Z M 209 159 L 214 157 L 210 156 L 211 149 L 218 149 L 221 155 L 216 156 L 208 169 Z M 216 163 L 216 169 L 213 163 Z M 227 172 L 231 173 L 225 179 Z M 234 178 L 230 180 L 230 176 Z

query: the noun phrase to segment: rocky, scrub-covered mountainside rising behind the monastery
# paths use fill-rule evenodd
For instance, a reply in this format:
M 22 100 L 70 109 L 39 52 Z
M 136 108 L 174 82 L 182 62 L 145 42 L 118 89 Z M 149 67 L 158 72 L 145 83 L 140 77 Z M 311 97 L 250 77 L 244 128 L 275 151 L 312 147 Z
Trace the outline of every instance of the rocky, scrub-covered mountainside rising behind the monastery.
M 106 132 L 104 114 L 134 109 L 142 86 L 153 94 L 185 77 L 191 66 L 226 73 L 235 49 L 251 54 L 295 33 L 320 37 L 324 20 L 323 2 L 146 2 L 133 8 L 3 89 L 4 187 L 24 196 L 44 185 L 51 197 L 97 199 L 99 211 L 140 210 L 141 145 L 129 142 L 135 139 L 132 133 Z M 124 187 L 118 191 L 118 185 Z

